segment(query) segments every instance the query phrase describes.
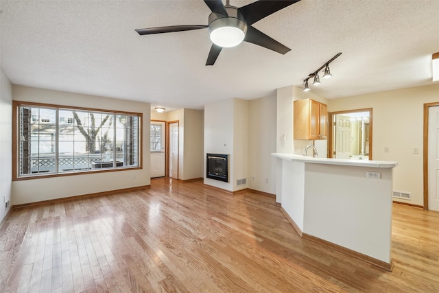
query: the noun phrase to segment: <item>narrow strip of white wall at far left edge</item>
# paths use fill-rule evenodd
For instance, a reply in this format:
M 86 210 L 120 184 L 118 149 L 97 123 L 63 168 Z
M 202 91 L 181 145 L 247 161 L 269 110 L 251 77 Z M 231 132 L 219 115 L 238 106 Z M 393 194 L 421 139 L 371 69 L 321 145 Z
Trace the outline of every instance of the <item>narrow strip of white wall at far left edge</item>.
M 12 204 L 5 209 L 11 199 L 12 187 L 12 84 L 0 68 L 0 223 Z

